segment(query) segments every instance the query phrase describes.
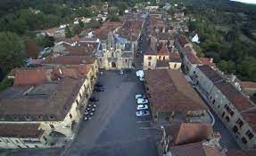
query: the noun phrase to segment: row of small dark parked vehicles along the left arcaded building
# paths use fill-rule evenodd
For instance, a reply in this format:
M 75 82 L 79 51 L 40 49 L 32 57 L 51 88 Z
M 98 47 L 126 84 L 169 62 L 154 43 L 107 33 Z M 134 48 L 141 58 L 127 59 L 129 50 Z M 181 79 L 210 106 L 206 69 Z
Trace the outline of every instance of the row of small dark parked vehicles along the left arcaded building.
M 103 85 L 100 82 L 95 83 L 94 91 L 95 92 L 102 92 L 102 91 L 104 91 Z M 85 121 L 88 121 L 88 120 L 92 119 L 93 115 L 95 114 L 95 110 L 96 110 L 97 102 L 98 101 L 99 101 L 99 99 L 95 98 L 94 96 L 89 98 L 89 104 L 87 105 L 86 111 L 84 113 Z

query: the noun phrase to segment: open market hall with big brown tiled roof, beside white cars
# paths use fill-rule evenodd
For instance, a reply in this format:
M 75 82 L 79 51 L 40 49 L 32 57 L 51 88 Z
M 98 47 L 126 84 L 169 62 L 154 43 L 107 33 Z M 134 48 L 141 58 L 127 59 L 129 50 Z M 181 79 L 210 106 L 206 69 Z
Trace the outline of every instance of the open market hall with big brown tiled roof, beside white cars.
M 146 70 L 145 90 L 154 121 L 212 121 L 208 107 L 179 70 Z

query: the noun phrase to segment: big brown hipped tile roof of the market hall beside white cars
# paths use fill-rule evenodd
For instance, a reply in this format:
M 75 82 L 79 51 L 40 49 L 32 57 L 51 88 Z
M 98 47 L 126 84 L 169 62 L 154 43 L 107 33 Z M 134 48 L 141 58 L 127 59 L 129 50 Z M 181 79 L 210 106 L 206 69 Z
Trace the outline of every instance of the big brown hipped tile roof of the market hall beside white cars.
M 151 105 L 157 112 L 208 109 L 178 70 L 145 71 L 145 85 Z

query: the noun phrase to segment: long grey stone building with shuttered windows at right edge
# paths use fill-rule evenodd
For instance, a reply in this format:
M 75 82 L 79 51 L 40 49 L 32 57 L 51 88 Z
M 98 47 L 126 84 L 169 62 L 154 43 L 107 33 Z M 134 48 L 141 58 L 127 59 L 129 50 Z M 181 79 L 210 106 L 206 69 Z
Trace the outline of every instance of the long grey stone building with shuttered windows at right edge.
M 211 66 L 197 66 L 191 78 L 196 90 L 218 114 L 237 144 L 243 149 L 255 148 L 255 104 Z

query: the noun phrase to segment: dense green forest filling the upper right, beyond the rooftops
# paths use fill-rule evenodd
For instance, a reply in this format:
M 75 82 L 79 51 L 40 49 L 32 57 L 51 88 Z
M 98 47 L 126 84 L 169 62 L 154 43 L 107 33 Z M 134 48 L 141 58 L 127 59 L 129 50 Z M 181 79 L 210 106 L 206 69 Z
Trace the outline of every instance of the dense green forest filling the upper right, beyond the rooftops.
M 228 0 L 178 0 L 186 6 L 190 33 L 200 37 L 199 57 L 213 58 L 221 71 L 256 82 L 256 6 Z M 182 5 L 180 5 L 182 7 Z

